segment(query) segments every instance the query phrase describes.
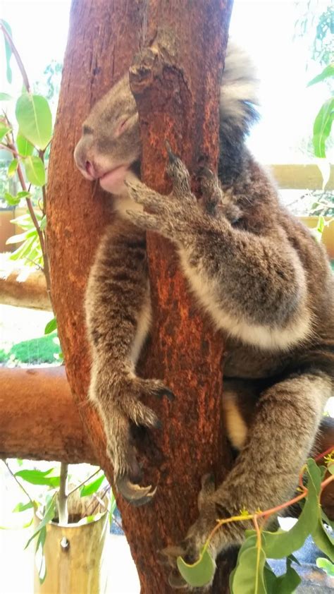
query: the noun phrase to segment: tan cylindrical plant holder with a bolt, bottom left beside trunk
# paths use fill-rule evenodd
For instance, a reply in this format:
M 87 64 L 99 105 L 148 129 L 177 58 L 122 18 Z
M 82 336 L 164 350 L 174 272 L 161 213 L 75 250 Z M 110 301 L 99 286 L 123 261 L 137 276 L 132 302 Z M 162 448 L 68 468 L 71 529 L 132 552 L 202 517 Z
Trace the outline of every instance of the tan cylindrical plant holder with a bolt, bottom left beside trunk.
M 44 543 L 46 578 L 39 582 L 35 564 L 35 594 L 104 594 L 107 587 L 105 562 L 109 512 L 94 511 L 99 517 L 89 523 L 47 524 Z M 40 518 L 36 518 L 36 525 Z

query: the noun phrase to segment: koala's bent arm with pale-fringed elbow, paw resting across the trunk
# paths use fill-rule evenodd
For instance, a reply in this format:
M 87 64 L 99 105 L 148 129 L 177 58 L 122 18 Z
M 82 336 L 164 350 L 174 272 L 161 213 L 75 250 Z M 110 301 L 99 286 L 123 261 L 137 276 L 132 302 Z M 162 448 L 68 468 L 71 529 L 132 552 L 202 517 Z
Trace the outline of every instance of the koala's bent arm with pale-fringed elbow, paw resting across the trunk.
M 174 241 L 190 286 L 218 328 L 274 350 L 307 337 L 311 315 L 304 269 L 283 229 L 277 224 L 260 235 L 235 228 L 224 216 L 212 217 L 197 204 L 189 174 L 173 154 L 168 173 L 173 179 L 168 198 L 143 184 L 130 186 L 132 199 L 149 210 L 130 217 Z M 216 201 L 217 194 L 224 201 L 214 176 L 206 179 L 205 192 L 206 201 Z

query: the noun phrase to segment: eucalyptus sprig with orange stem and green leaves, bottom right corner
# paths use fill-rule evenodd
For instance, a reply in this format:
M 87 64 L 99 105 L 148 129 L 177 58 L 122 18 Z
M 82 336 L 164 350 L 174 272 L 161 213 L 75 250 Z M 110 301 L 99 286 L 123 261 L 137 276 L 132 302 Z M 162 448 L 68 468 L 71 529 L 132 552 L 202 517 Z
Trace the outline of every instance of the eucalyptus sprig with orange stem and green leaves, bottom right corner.
M 257 510 L 249 513 L 248 510 L 240 511 L 239 516 L 228 519 L 217 519 L 217 525 L 209 534 L 202 553 L 194 564 L 187 564 L 182 557 L 178 557 L 178 569 L 185 581 L 191 586 L 200 587 L 209 583 L 214 575 L 215 564 L 209 554 L 209 544 L 212 536 L 224 524 L 238 521 L 253 523 L 254 530 L 247 530 L 245 542 L 240 548 L 237 565 L 230 575 L 231 594 L 290 594 L 295 591 L 301 579 L 292 567 L 292 562 L 297 562 L 293 553 L 297 551 L 311 535 L 314 542 L 330 559 L 318 560 L 328 574 L 333 571 L 334 561 L 334 524 L 321 509 L 320 496 L 323 489 L 334 480 L 334 449 L 324 452 L 318 459 L 325 455 L 326 466 L 317 466 L 316 461 L 309 459 L 302 468 L 299 476 L 300 494 L 284 504 L 265 511 Z M 328 477 L 325 478 L 326 473 Z M 307 480 L 304 485 L 303 477 Z M 273 514 L 278 514 L 282 509 L 292 504 L 302 502 L 302 512 L 289 531 L 278 530 L 268 532 L 264 530 L 266 521 Z M 325 525 L 329 529 L 325 528 Z M 286 558 L 286 572 L 277 577 L 271 570 L 267 559 Z M 298 563 L 298 562 L 297 562 Z M 320 563 L 320 565 L 319 565 Z

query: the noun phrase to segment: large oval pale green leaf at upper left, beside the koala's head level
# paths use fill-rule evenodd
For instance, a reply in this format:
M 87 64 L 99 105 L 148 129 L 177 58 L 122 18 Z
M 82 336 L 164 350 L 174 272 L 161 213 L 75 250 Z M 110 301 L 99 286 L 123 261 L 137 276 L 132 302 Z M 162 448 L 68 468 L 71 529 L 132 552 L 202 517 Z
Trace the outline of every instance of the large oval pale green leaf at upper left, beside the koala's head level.
M 52 117 L 47 99 L 24 93 L 16 102 L 20 133 L 35 147 L 44 150 L 52 136 Z

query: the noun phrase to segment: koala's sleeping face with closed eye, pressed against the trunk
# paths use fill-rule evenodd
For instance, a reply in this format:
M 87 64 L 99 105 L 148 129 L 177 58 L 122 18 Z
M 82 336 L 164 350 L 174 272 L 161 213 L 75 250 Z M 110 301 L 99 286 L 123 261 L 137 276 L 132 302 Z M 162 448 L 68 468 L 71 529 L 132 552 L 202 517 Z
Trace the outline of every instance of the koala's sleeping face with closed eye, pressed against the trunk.
M 99 179 L 104 190 L 121 195 L 139 158 L 140 126 L 127 74 L 92 108 L 74 159 L 85 178 Z

